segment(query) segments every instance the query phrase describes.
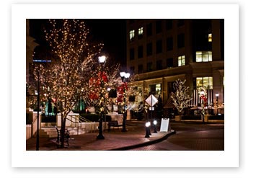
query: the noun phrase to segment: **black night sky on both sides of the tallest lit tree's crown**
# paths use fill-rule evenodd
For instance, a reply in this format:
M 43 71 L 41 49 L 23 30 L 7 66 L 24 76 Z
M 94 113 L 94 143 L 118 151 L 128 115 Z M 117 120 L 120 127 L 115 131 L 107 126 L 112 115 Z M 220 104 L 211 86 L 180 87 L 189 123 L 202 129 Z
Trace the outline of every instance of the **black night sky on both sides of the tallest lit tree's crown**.
M 43 28 L 47 19 L 30 19 L 30 35 L 37 43 L 43 44 Z M 126 26 L 125 19 L 86 19 L 92 40 L 104 43 L 103 50 L 108 53 L 108 60 L 125 66 L 126 61 Z

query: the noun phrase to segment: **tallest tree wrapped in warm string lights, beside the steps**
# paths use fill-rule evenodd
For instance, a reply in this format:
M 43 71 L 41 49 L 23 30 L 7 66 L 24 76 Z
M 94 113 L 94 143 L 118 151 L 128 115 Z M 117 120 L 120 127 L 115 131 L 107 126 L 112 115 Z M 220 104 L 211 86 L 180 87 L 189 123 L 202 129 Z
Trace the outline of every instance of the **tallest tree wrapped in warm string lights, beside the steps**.
M 50 45 L 53 61 L 35 67 L 34 75 L 40 71 L 40 95 L 50 94 L 61 113 L 61 147 L 64 146 L 66 117 L 89 91 L 91 67 L 100 54 L 103 44 L 94 45 L 88 40 L 89 30 L 81 19 L 49 19 L 49 30 L 45 29 L 45 40 Z M 35 79 L 37 80 L 37 79 Z

